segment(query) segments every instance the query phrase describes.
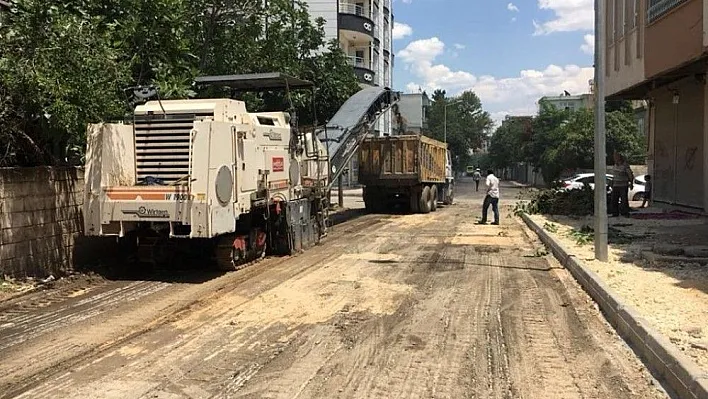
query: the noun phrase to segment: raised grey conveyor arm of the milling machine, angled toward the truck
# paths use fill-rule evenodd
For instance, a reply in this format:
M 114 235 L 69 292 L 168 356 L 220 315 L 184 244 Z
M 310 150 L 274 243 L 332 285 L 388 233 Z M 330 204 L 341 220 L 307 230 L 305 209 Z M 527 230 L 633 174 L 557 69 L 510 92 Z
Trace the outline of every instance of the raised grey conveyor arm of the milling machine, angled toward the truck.
M 317 136 L 327 146 L 330 187 L 346 168 L 371 127 L 398 102 L 400 95 L 387 87 L 368 87 L 351 96 Z

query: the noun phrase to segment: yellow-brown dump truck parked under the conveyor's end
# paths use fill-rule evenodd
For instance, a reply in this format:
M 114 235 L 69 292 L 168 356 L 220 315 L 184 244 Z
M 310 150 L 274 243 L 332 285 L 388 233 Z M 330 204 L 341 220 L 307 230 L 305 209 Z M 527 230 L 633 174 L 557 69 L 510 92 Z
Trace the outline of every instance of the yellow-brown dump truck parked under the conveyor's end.
M 435 212 L 453 203 L 455 179 L 447 144 L 422 135 L 367 137 L 359 149 L 359 182 L 366 209 L 395 206 Z

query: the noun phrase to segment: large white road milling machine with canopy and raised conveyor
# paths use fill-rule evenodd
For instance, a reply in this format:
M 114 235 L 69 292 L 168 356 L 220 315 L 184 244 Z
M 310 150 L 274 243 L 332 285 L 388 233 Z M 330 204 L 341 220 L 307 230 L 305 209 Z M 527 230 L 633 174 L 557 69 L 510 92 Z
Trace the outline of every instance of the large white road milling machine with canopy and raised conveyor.
M 280 74 L 197 78 L 232 93 L 313 89 Z M 326 234 L 328 194 L 398 93 L 362 89 L 323 128 L 227 98 L 150 100 L 132 123 L 88 127 L 84 231 L 130 243 L 139 261 L 209 254 L 234 269 Z M 292 109 L 292 106 L 291 106 Z

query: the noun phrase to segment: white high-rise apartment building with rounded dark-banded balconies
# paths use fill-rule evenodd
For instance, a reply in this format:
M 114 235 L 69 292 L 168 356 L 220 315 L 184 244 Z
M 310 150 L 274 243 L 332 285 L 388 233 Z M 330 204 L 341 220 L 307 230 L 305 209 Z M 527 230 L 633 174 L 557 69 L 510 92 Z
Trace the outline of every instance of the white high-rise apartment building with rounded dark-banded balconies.
M 326 21 L 327 41 L 337 39 L 349 56 L 362 87 L 391 87 L 394 54 L 392 48 L 392 0 L 305 0 L 313 19 Z M 377 131 L 391 134 L 388 112 Z

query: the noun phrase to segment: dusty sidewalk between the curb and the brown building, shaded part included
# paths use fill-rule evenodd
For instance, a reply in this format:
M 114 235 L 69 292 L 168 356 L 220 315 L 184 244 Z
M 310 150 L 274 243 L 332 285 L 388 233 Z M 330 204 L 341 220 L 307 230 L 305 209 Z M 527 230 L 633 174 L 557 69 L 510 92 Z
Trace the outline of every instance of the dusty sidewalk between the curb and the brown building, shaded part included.
M 705 388 L 708 386 L 708 267 L 704 265 L 708 263 L 708 247 L 705 246 L 708 219 L 695 215 L 667 215 L 668 218 L 660 214 L 644 215 L 610 218 L 607 263 L 594 260 L 591 217 L 528 215 L 528 219 L 562 247 L 554 249 L 556 256 L 560 253 L 565 263 L 573 259 L 584 265 L 616 294 L 619 302 L 616 314 L 622 312 L 622 304 L 626 304 L 636 309 L 640 321 L 635 322 L 639 327 L 646 323 L 649 329 L 658 331 L 659 336 L 668 338 L 663 340 L 670 347 L 666 356 L 673 359 L 673 350 L 688 360 L 685 363 L 693 364 L 695 375 L 684 375 L 684 381 L 698 379 Z M 606 313 L 607 306 L 603 307 Z M 608 316 L 608 320 L 611 319 Z M 629 338 L 635 346 L 631 334 Z M 648 337 L 636 338 L 641 344 L 650 344 Z M 664 366 L 679 378 L 682 362 L 673 363 L 676 364 Z

